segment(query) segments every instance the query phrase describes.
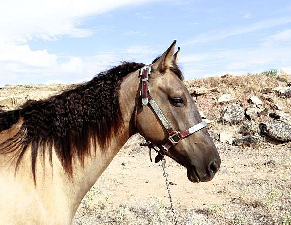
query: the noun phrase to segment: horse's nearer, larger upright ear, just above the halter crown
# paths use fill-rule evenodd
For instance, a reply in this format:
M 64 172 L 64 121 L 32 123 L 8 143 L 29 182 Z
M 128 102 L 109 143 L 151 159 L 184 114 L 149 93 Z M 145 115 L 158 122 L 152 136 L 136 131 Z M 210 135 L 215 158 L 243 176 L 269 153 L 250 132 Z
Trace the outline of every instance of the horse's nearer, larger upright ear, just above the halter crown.
M 152 68 L 155 70 L 164 71 L 167 68 L 170 68 L 173 64 L 173 54 L 175 49 L 176 40 L 173 41 L 171 46 L 162 54 L 162 56 L 152 65 Z

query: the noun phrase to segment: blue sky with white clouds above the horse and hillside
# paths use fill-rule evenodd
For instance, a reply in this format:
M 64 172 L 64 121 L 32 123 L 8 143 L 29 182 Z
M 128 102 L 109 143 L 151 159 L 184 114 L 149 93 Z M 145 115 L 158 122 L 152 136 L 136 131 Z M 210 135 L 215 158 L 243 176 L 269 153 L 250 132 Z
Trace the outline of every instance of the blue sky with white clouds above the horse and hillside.
M 0 86 L 87 81 L 174 39 L 186 79 L 291 73 L 288 0 L 7 1 L 0 21 Z

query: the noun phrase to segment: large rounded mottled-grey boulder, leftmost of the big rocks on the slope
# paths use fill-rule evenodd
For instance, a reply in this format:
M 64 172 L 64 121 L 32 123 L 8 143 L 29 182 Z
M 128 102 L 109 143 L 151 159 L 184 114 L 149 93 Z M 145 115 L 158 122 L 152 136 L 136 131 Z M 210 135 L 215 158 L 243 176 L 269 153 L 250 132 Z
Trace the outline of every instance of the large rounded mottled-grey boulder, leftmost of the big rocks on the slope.
M 244 109 L 239 104 L 224 107 L 222 113 L 222 120 L 226 123 L 237 124 L 245 120 Z

